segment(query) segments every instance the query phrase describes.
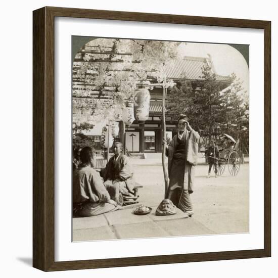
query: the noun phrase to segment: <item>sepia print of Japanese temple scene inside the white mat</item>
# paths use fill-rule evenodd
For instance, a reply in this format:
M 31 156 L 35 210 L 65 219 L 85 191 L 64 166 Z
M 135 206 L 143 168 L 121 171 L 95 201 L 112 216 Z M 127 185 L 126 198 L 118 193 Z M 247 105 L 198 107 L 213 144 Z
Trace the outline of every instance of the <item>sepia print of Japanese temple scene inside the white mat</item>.
M 72 241 L 249 233 L 249 45 L 71 42 Z

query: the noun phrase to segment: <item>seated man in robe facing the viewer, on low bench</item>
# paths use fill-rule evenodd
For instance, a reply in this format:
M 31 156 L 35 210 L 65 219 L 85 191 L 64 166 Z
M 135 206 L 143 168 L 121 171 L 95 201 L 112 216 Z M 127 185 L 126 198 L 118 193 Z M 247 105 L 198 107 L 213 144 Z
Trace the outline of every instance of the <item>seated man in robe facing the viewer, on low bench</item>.
M 116 142 L 114 146 L 115 155 L 109 159 L 104 175 L 104 185 L 111 198 L 118 205 L 123 204 L 122 194 L 131 196 L 134 187 L 134 181 L 132 179 L 133 171 L 131 170 L 127 156 L 122 151 L 122 143 Z

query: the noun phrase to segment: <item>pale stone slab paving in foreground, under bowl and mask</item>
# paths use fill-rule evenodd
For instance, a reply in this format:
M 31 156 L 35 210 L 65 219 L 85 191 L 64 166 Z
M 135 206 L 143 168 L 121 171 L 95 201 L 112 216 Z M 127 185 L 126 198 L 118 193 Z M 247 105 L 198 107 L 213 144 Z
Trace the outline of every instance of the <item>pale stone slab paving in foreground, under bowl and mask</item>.
M 209 235 L 214 231 L 182 211 L 169 216 L 156 216 L 157 206 L 147 215 L 132 213 L 135 206 L 98 216 L 73 218 L 73 241 L 158 238 Z

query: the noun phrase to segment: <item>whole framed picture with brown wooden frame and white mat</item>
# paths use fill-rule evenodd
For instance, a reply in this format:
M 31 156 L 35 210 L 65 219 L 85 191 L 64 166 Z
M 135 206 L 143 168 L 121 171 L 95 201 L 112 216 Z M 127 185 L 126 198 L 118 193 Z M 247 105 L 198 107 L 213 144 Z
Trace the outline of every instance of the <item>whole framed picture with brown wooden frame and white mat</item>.
M 33 266 L 271 256 L 269 21 L 33 12 Z

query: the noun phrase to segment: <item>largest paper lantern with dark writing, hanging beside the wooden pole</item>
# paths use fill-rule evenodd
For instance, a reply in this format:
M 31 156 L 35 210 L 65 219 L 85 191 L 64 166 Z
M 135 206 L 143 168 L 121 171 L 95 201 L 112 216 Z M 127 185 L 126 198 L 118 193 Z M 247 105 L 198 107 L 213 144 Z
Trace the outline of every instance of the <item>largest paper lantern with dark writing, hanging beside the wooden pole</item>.
M 145 122 L 150 112 L 150 92 L 147 89 L 136 89 L 134 96 L 134 114 L 138 122 Z

